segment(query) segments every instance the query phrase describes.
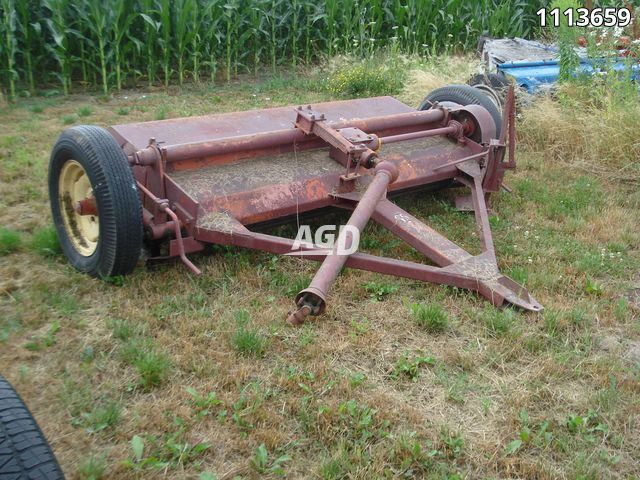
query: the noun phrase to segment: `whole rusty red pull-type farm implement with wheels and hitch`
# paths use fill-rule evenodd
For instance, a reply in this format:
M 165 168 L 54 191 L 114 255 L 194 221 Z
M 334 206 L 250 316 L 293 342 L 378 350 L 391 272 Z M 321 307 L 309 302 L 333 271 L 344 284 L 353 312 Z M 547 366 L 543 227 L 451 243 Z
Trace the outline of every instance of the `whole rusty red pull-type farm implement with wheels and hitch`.
M 344 266 L 478 292 L 539 311 L 527 290 L 497 266 L 487 200 L 514 162 L 514 98 L 502 114 L 480 91 L 450 86 L 420 109 L 377 97 L 155 122 L 73 127 L 51 156 L 51 207 L 63 250 L 80 271 L 123 275 L 143 242 L 166 245 L 195 273 L 187 254 L 207 243 L 322 261 L 295 300 L 289 321 L 325 310 Z M 480 238 L 471 255 L 390 198 L 467 187 Z M 335 246 L 257 231 L 326 207 L 351 210 Z M 431 264 L 379 257 L 352 247 L 373 219 Z M 263 229 L 260 229 L 263 231 Z M 295 248 L 294 248 L 295 246 Z

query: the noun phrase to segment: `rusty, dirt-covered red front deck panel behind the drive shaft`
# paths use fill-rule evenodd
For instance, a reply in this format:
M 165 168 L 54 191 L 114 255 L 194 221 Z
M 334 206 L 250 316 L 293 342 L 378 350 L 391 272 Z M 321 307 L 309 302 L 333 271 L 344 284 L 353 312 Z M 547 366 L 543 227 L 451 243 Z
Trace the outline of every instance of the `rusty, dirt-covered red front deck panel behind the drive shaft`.
M 400 172 L 390 191 L 452 178 L 455 166 L 438 168 L 469 154 L 469 149 L 443 138 L 425 138 L 386 145 L 382 158 Z M 252 224 L 332 205 L 345 168 L 329 158 L 327 149 L 272 155 L 197 170 L 168 174 L 204 212 L 227 212 Z M 362 168 L 353 188 L 364 188 L 371 171 Z

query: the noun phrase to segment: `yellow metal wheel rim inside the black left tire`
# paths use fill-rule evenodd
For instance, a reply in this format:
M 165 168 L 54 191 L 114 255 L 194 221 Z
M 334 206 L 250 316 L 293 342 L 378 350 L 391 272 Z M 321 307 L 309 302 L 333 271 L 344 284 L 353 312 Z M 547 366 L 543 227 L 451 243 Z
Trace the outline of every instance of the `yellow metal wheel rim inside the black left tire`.
M 98 215 L 80 215 L 75 210 L 77 202 L 93 196 L 89 176 L 77 161 L 67 160 L 62 166 L 58 195 L 67 237 L 80 255 L 91 256 L 98 247 L 100 220 Z

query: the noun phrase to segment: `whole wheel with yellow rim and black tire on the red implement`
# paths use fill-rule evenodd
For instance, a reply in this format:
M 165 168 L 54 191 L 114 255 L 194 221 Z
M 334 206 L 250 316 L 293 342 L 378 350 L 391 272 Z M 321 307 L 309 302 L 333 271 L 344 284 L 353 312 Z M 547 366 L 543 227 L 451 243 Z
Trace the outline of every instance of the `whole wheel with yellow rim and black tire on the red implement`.
M 74 209 L 95 198 L 95 215 Z M 105 129 L 72 127 L 58 137 L 49 162 L 49 201 L 62 251 L 94 277 L 126 275 L 142 247 L 142 204 L 129 162 Z

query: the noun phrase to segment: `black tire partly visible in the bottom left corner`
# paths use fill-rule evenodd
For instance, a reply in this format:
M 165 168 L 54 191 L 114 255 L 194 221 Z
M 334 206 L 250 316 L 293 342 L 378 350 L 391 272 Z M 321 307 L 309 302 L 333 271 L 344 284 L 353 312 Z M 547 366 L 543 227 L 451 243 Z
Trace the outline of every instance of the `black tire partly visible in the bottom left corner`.
M 1 375 L 0 480 L 64 480 L 40 427 Z

